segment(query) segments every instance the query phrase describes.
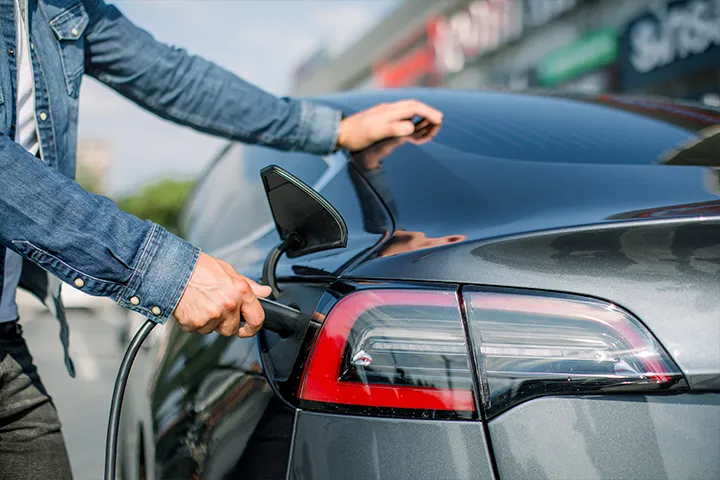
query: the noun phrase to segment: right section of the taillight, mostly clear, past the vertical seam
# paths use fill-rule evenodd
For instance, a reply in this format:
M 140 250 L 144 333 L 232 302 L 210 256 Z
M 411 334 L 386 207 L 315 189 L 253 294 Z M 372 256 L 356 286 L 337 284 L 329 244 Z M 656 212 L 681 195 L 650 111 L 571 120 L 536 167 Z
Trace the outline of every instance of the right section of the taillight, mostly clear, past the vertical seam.
M 540 395 L 644 391 L 684 381 L 645 327 L 610 303 L 466 289 L 488 416 Z

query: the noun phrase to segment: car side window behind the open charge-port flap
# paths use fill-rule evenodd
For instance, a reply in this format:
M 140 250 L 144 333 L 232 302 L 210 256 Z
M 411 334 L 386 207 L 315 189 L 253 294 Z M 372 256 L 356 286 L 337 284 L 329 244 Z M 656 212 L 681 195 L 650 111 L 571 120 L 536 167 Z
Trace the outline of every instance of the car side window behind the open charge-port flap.
M 278 165 L 314 185 L 327 170 L 321 156 L 232 144 L 215 159 L 186 209 L 185 237 L 205 251 L 236 242 L 272 221 L 260 170 Z

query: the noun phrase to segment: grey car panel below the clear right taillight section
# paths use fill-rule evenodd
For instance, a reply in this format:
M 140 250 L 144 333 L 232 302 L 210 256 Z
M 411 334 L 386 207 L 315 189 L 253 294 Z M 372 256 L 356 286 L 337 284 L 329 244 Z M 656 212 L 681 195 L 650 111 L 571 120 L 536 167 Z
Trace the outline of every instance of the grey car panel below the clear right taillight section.
M 490 422 L 501 478 L 716 479 L 720 395 L 548 397 Z

